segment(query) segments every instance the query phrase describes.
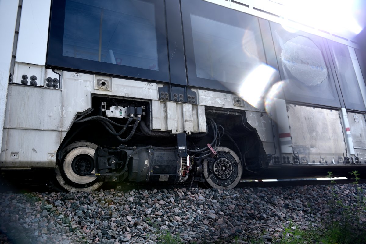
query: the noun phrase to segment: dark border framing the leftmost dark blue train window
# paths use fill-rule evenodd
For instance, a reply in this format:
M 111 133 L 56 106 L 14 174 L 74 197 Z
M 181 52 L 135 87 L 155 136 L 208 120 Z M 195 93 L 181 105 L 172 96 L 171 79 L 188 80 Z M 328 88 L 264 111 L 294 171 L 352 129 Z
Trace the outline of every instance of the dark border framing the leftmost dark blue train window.
M 63 56 L 63 38 L 66 0 L 52 1 L 49 25 L 46 66 L 99 73 L 110 76 L 124 76 L 136 79 L 169 82 L 169 60 L 167 27 L 164 0 L 140 0 L 155 4 L 155 24 L 159 70 L 149 70 L 126 65 L 112 64 Z

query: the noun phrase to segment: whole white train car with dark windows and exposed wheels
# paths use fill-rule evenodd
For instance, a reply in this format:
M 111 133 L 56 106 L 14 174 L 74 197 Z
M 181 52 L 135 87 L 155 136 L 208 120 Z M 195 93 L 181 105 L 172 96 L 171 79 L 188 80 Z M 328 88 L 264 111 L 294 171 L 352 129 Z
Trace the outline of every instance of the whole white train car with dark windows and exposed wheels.
M 366 73 L 354 33 L 287 8 L 0 1 L 1 171 L 54 168 L 68 191 L 230 189 L 264 169 L 365 165 Z

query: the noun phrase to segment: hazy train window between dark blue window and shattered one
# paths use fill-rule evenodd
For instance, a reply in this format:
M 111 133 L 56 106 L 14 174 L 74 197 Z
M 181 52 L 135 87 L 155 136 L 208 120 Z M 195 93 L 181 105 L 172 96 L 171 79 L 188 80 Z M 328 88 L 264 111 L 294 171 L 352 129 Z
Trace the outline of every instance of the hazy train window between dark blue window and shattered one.
M 239 91 L 265 62 L 258 18 L 205 1 L 181 3 L 188 84 Z

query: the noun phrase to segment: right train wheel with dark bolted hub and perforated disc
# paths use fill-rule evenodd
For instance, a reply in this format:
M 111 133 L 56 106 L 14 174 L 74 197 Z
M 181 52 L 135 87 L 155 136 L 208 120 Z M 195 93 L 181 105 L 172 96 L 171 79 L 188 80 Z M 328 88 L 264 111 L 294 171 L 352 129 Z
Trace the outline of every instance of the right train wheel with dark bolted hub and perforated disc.
M 207 183 L 219 190 L 234 188 L 242 177 L 242 163 L 230 150 L 220 146 L 216 150 L 218 157 L 203 161 L 203 176 Z

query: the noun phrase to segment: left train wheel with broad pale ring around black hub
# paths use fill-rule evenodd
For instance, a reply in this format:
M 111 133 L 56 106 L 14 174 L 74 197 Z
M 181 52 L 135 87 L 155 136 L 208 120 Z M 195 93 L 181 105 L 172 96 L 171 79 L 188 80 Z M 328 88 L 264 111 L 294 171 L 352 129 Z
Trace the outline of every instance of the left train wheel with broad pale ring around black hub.
M 94 173 L 94 152 L 97 145 L 87 142 L 74 142 L 61 152 L 61 161 L 56 168 L 56 179 L 68 191 L 94 191 L 103 182 L 96 176 L 82 175 L 82 172 Z

